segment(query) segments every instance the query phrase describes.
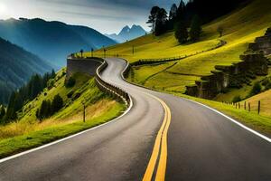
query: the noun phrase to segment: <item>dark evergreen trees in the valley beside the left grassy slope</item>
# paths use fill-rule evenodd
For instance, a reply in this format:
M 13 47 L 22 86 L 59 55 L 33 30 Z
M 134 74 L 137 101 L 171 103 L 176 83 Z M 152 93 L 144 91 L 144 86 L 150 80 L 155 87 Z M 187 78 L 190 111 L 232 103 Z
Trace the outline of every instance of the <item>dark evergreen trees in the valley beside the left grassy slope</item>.
M 9 103 L 7 105 L 5 116 L 1 119 L 1 123 L 8 123 L 17 119 L 17 111 L 22 110 L 23 106 L 37 97 L 39 93 L 46 87 L 51 86 L 51 79 L 56 76 L 55 71 L 45 73 L 43 76 L 34 74 L 19 90 L 12 92 Z M 1 114 L 2 115 L 2 114 Z

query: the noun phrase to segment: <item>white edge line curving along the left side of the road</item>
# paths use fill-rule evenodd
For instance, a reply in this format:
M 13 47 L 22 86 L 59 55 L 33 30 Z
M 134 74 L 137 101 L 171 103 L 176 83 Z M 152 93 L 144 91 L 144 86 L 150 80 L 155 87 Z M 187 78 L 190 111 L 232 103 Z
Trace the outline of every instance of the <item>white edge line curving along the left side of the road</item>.
M 127 67 L 127 66 L 126 66 L 126 67 Z M 123 72 L 124 72 L 124 71 L 123 71 Z M 122 76 L 123 76 L 123 75 L 122 75 Z M 69 137 L 61 138 L 61 139 L 56 140 L 56 141 L 53 141 L 53 142 L 51 142 L 51 143 L 42 145 L 41 147 L 29 149 L 29 150 L 27 150 L 27 151 L 23 151 L 22 153 L 18 153 L 18 154 L 15 154 L 15 155 L 13 155 L 13 156 L 10 156 L 10 157 L 2 158 L 2 159 L 0 159 L 0 163 L 4 163 L 4 162 L 6 162 L 6 161 L 8 161 L 8 160 L 14 159 L 15 157 L 21 157 L 21 156 L 23 156 L 23 155 L 32 153 L 32 152 L 37 151 L 37 150 L 40 150 L 40 149 L 42 149 L 42 148 L 48 148 L 48 147 L 50 147 L 50 146 L 52 146 L 52 145 L 58 144 L 58 143 L 60 143 L 60 142 L 62 142 L 62 141 L 65 141 L 65 140 L 67 140 L 67 139 L 74 138 L 74 137 L 77 137 L 77 136 L 79 136 L 79 135 L 82 135 L 82 134 L 84 134 L 84 133 L 86 133 L 86 132 L 89 132 L 89 131 L 91 131 L 91 130 L 93 130 L 93 129 L 98 129 L 98 128 L 100 128 L 100 127 L 106 126 L 107 124 L 111 124 L 111 123 L 117 121 L 118 119 L 121 119 L 122 117 L 124 117 L 124 116 L 132 109 L 132 107 L 133 107 L 133 100 L 132 100 L 132 98 L 130 97 L 130 95 L 129 95 L 129 99 L 130 99 L 130 106 L 129 106 L 129 108 L 128 108 L 122 115 L 120 115 L 119 117 L 117 117 L 116 119 L 109 120 L 109 121 L 107 121 L 107 122 L 104 123 L 104 124 L 98 125 L 97 127 L 94 127 L 94 128 L 91 128 L 91 129 L 87 129 L 87 130 L 84 130 L 84 131 L 81 131 L 81 132 L 76 133 L 76 134 L 74 134 L 74 135 L 71 135 L 71 136 L 69 136 Z

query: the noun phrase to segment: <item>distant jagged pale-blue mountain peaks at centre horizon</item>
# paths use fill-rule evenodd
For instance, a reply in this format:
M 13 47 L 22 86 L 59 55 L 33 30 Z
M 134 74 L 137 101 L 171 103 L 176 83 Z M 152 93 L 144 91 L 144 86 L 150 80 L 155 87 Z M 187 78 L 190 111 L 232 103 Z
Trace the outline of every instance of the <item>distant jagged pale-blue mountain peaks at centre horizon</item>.
M 118 34 L 113 33 L 105 35 L 113 40 L 116 40 L 118 43 L 125 43 L 126 41 L 143 36 L 145 33 L 145 30 L 140 25 L 134 24 L 131 28 L 126 25 Z

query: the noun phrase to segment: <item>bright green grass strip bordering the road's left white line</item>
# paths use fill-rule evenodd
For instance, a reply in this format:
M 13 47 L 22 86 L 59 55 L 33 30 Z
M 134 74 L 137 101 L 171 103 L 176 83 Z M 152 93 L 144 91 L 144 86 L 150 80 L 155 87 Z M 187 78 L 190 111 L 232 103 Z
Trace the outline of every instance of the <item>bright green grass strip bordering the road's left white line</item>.
M 78 133 L 79 131 L 96 127 L 108 120 L 117 118 L 120 112 L 124 109 L 124 105 L 116 103 L 101 116 L 94 119 L 88 119 L 86 122 L 79 120 L 68 125 L 55 125 L 46 129 L 29 132 L 22 136 L 0 140 L 0 158 L 22 152 L 29 148 L 36 148 L 53 140 L 64 138 Z

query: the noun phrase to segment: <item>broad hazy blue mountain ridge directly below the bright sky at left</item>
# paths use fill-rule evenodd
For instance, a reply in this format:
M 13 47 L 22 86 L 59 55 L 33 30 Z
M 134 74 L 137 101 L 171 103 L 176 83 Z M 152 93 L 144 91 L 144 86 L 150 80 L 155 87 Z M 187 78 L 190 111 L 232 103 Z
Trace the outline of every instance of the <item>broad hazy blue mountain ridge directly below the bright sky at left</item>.
M 89 27 L 47 22 L 39 18 L 1 20 L 0 37 L 48 60 L 55 69 L 65 65 L 71 52 L 116 44 Z

